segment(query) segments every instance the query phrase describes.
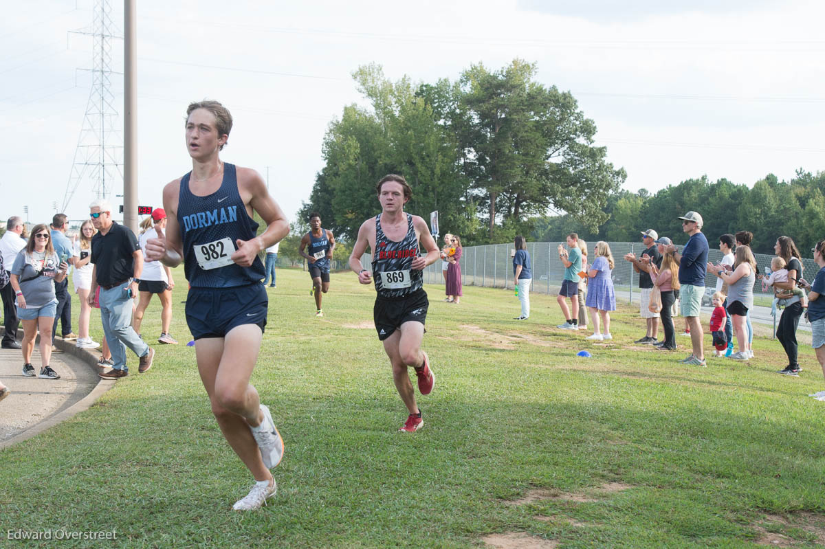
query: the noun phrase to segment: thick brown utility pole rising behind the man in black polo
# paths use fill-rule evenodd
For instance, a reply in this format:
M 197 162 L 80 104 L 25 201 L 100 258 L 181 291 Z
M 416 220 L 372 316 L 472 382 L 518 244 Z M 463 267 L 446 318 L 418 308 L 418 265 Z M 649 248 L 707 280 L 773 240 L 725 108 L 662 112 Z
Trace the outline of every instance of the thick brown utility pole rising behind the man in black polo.
M 136 58 L 135 0 L 124 0 L 124 59 L 123 59 L 123 224 L 138 232 L 138 162 L 137 130 L 134 127 Z

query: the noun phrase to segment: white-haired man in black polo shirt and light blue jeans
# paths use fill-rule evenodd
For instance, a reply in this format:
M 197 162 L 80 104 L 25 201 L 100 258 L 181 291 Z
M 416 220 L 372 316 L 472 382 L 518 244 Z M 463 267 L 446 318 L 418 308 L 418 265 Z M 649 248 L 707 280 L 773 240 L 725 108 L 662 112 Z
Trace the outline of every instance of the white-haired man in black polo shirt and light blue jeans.
M 132 329 L 132 298 L 138 294 L 140 274 L 144 270 L 144 254 L 134 232 L 111 219 L 111 204 L 95 200 L 89 205 L 92 224 L 97 234 L 92 237 L 92 291 L 89 303 L 100 286 L 101 321 L 106 343 L 115 363 L 99 375 L 103 379 L 119 379 L 129 375 L 126 367 L 126 347 L 140 357 L 138 372 L 152 368 L 154 350 Z

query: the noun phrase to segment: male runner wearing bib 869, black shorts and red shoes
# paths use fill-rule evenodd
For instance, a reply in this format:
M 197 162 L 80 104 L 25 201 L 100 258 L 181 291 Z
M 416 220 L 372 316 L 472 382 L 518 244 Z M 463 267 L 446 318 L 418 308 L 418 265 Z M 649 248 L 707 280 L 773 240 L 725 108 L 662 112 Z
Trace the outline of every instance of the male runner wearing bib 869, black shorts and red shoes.
M 417 215 L 404 213 L 404 204 L 413 190 L 403 176 L 384 176 L 376 190 L 381 213 L 367 219 L 358 229 L 350 269 L 358 273 L 361 284 L 370 284 L 375 278 L 378 292 L 373 307 L 375 330 L 392 364 L 395 388 L 409 411 L 407 421 L 398 430 L 413 432 L 421 429 L 424 421 L 415 401 L 408 367 L 415 370 L 422 395 L 429 394 L 436 384 L 430 359 L 421 350 L 429 307 L 422 280 L 424 268 L 438 260 L 439 251 L 427 223 Z M 420 255 L 419 242 L 427 250 L 427 256 Z M 367 246 L 372 255 L 371 274 L 361 264 Z

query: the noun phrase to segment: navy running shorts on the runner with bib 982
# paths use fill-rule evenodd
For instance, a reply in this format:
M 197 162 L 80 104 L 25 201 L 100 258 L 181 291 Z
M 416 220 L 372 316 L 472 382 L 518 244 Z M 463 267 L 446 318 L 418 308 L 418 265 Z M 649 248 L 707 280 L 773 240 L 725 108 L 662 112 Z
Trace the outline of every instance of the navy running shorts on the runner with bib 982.
M 255 324 L 264 331 L 269 298 L 263 284 L 229 288 L 191 288 L 186 324 L 192 338 L 225 337 L 235 326 Z

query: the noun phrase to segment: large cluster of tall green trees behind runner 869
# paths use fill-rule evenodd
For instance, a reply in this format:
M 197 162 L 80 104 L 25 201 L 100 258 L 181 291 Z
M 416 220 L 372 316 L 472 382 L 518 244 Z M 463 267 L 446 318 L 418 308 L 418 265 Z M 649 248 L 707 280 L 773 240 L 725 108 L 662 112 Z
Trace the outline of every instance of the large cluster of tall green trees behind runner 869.
M 593 145 L 596 124 L 569 92 L 535 82 L 535 64 L 515 59 L 497 71 L 473 65 L 455 82 L 390 82 L 380 66 L 353 77 L 370 107 L 351 105 L 323 140 L 325 165 L 299 217 L 352 240 L 375 215 L 375 183 L 388 173 L 413 188 L 405 209 L 465 244 L 528 233 L 531 218 L 563 210 L 582 226 L 605 223 L 609 196 L 625 171 Z

